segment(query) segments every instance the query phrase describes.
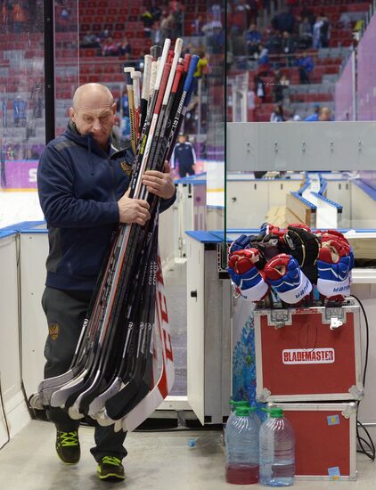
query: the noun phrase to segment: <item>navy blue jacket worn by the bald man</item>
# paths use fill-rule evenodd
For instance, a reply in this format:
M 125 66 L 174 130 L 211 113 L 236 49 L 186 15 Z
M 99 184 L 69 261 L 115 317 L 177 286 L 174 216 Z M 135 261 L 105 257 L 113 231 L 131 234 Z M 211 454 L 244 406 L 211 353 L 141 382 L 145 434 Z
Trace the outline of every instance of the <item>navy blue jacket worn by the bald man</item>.
M 92 135 L 69 127 L 48 143 L 39 162 L 39 200 L 48 226 L 46 286 L 94 290 L 119 225 L 118 200 L 127 191 L 134 155 L 113 143 L 106 153 Z M 161 200 L 160 209 L 176 199 Z

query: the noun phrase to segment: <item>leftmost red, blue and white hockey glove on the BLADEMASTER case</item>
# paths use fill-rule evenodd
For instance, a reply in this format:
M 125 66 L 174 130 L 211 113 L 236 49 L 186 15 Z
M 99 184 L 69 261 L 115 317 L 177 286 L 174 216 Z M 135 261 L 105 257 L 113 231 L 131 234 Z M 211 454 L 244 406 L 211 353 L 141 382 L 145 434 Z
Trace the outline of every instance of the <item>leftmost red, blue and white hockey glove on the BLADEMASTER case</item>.
M 237 250 L 228 260 L 228 274 L 241 295 L 250 301 L 259 301 L 269 290 L 263 274 L 255 267 L 258 260 L 257 249 Z

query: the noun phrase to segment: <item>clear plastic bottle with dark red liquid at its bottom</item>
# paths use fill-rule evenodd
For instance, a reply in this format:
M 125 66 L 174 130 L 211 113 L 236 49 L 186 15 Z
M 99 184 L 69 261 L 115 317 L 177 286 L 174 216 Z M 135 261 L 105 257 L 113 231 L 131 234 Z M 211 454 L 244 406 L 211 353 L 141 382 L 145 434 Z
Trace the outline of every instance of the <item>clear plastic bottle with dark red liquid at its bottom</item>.
M 256 408 L 237 407 L 225 428 L 226 481 L 249 485 L 258 481 L 258 432 Z

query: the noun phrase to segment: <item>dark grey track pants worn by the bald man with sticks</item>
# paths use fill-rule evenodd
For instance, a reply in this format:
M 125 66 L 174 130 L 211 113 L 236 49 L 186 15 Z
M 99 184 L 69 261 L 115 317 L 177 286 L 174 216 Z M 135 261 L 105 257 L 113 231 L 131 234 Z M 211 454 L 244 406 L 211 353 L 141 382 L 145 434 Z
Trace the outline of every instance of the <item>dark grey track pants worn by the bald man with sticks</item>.
M 42 306 L 48 323 L 45 342 L 45 378 L 67 372 L 78 344 L 82 323 L 85 320 L 91 293 L 86 291 L 62 291 L 45 288 Z M 70 419 L 61 408 L 47 411 L 48 418 L 59 430 L 77 430 L 79 421 Z M 127 456 L 123 446 L 127 433 L 114 432 L 113 426 L 95 427 L 95 447 L 90 452 L 96 461 L 103 456 L 116 456 L 120 460 Z

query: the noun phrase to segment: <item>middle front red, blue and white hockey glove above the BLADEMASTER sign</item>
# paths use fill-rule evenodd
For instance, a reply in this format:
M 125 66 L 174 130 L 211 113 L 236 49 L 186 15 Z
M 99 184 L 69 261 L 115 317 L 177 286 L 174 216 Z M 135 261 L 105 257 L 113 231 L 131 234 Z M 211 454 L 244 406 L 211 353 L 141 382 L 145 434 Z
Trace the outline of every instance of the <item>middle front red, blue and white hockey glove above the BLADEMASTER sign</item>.
M 266 282 L 273 287 L 282 301 L 294 305 L 312 290 L 312 284 L 303 274 L 298 261 L 287 254 L 269 260 L 264 269 Z

